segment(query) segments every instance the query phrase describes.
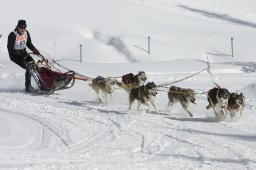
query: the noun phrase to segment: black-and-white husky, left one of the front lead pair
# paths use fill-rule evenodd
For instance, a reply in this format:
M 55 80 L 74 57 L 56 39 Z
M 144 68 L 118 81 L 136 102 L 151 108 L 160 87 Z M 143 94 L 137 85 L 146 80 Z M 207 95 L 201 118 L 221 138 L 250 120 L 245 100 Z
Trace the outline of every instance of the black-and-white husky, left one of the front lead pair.
M 206 106 L 206 109 L 210 109 L 212 107 L 215 116 L 218 116 L 218 113 L 216 111 L 216 106 L 219 107 L 221 110 L 221 113 L 223 115 L 227 116 L 227 108 L 228 108 L 228 99 L 229 99 L 229 91 L 225 88 L 216 88 L 208 91 L 207 99 L 208 99 L 208 106 Z

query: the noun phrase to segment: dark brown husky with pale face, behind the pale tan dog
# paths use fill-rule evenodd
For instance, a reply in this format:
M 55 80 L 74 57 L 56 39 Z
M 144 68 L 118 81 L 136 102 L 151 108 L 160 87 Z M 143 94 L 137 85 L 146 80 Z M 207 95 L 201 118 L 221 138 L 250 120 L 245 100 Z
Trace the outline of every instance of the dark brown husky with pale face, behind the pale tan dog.
M 146 73 L 144 71 L 139 71 L 136 75 L 133 73 L 123 75 L 122 82 L 117 82 L 117 85 L 124 88 L 126 91 L 130 91 L 132 88 L 138 88 L 142 86 L 146 80 Z

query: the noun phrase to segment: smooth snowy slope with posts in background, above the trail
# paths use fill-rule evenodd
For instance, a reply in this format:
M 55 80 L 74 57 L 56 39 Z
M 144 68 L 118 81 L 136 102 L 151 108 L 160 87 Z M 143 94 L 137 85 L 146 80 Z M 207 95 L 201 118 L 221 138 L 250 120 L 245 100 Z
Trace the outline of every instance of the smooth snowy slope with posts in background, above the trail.
M 79 60 L 83 44 L 85 62 L 169 61 L 177 58 L 205 59 L 206 53 L 234 55 L 239 60 L 255 61 L 254 2 L 245 0 L 45 0 L 4 3 L 0 25 L 6 42 L 17 20 L 28 22 L 34 44 L 55 58 Z M 9 15 L 9 8 L 21 15 Z M 32 15 L 33 14 L 33 15 Z M 49 16 L 49 17 L 48 17 Z M 147 37 L 151 37 L 151 55 Z M 113 45 L 115 39 L 119 45 Z M 54 54 L 55 42 L 55 54 Z M 6 52 L 6 49 L 3 49 Z M 6 56 L 4 56 L 6 58 Z

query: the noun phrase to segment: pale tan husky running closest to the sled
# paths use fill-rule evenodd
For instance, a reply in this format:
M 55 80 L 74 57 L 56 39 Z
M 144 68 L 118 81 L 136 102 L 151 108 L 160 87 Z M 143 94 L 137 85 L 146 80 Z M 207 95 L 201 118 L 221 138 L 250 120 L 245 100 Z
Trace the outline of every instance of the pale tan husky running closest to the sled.
M 115 90 L 116 80 L 113 77 L 104 78 L 98 76 L 89 83 L 89 86 L 97 93 L 99 101 L 102 103 L 101 96 L 104 97 L 105 102 L 107 101 L 107 95 L 111 96 L 112 102 L 114 102 L 113 92 Z

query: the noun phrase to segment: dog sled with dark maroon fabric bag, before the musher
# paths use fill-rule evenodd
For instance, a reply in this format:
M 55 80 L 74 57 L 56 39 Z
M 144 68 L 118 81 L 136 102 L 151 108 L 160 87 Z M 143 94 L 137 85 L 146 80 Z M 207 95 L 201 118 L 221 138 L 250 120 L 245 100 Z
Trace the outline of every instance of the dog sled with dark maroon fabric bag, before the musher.
M 37 62 L 28 64 L 31 76 L 43 94 L 52 94 L 56 90 L 71 88 L 75 84 L 75 72 L 61 72 L 42 55 Z

